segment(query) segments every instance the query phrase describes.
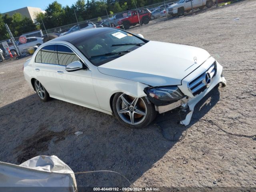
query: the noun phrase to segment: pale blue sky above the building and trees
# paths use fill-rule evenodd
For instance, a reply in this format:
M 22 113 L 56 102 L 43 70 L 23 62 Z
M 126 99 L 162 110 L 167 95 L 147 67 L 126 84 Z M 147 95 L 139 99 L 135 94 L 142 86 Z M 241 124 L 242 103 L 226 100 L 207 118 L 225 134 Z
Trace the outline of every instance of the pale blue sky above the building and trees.
M 70 6 L 76 2 L 76 0 L 57 0 L 62 6 Z M 4 2 L 4 3 L 3 3 Z M 12 10 L 20 9 L 23 7 L 39 7 L 45 10 L 46 7 L 54 2 L 54 0 L 13 0 L 9 4 L 8 0 L 0 0 L 0 13 L 9 12 Z

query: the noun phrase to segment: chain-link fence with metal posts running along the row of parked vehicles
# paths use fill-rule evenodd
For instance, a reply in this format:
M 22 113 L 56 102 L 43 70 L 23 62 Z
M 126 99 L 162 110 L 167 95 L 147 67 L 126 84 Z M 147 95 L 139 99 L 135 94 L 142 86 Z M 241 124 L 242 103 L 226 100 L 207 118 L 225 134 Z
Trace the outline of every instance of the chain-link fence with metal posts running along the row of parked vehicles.
M 55 28 L 46 28 L 42 30 L 42 34 L 44 36 L 49 34 L 56 34 L 58 36 L 63 35 L 65 32 L 68 32 L 68 30 L 74 28 L 74 30 L 71 30 L 70 32 L 80 30 L 80 28 L 84 28 L 83 26 L 86 26 L 86 23 L 93 23 L 96 24 L 96 27 L 102 27 L 102 26 L 112 26 L 112 27 L 119 27 L 121 26 L 124 29 L 128 29 L 133 26 L 139 26 L 139 25 L 145 25 L 148 23 L 155 23 L 155 22 L 162 22 L 169 18 L 175 18 L 180 17 L 186 14 L 193 14 L 196 12 L 200 12 L 200 10 L 205 8 L 210 8 L 214 6 L 215 4 L 224 2 L 225 0 L 166 0 L 166 1 L 160 1 L 156 4 L 151 4 L 144 7 L 137 7 L 135 4 L 135 9 L 126 10 L 123 12 L 117 12 L 114 14 L 108 14 L 110 13 L 110 8 L 106 8 L 106 14 L 102 15 L 100 17 L 92 18 L 90 20 L 83 20 L 78 22 L 77 18 L 79 17 L 81 20 L 80 15 L 76 15 L 76 17 L 73 17 L 74 20 L 70 24 L 66 24 L 63 26 L 58 26 Z M 150 18 L 148 20 L 145 20 L 142 16 L 143 14 L 146 14 L 145 10 L 149 10 L 148 16 Z M 111 12 L 112 13 L 112 12 Z M 74 12 L 74 15 L 76 13 Z M 127 18 L 134 17 L 137 20 L 134 23 L 130 23 L 127 25 L 126 20 Z M 47 25 L 46 25 L 47 26 Z M 76 27 L 78 26 L 78 27 Z M 147 25 L 150 27 L 151 25 Z M 75 28 L 76 27 L 76 28 Z M 19 40 L 19 37 L 14 37 L 15 41 Z M 7 40 L 9 43 L 9 46 L 12 45 L 10 40 Z M 0 48 L 4 50 L 0 44 Z M 4 51 L 4 53 L 6 53 Z M 8 54 L 6 54 L 8 56 Z

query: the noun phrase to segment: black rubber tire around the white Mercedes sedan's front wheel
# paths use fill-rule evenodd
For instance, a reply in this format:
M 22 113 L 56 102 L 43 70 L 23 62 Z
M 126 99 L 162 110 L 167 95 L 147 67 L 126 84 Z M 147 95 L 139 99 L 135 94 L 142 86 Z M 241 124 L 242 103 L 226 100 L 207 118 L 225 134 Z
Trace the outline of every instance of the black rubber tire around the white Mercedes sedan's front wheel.
M 118 106 L 118 98 L 120 98 L 121 95 L 125 95 L 123 93 L 116 93 L 114 95 L 114 98 L 113 98 L 113 102 L 112 102 L 112 108 L 113 108 L 113 111 L 114 111 L 114 114 L 116 116 L 116 118 L 124 125 L 124 126 L 127 126 L 127 127 L 130 127 L 130 128 L 143 128 L 143 127 L 146 127 L 148 126 L 155 118 L 156 118 L 156 110 L 155 110 L 155 106 L 154 104 L 148 102 L 146 100 L 145 97 L 142 97 L 142 98 L 139 98 L 140 99 L 140 102 L 143 103 L 144 106 L 146 106 L 146 115 L 145 117 L 143 117 L 142 119 L 142 122 L 140 122 L 139 124 L 129 124 L 127 122 L 125 122 L 121 117 L 120 115 L 118 114 L 117 112 L 117 106 Z M 128 95 L 125 95 L 126 97 L 130 97 Z M 132 97 L 130 97 L 132 98 Z M 140 102 L 138 101 L 138 106 L 137 107 L 140 107 Z M 137 109 L 136 106 L 134 106 L 134 111 L 136 111 Z M 137 118 L 138 119 L 138 118 Z M 136 117 L 134 116 L 134 122 L 136 121 Z

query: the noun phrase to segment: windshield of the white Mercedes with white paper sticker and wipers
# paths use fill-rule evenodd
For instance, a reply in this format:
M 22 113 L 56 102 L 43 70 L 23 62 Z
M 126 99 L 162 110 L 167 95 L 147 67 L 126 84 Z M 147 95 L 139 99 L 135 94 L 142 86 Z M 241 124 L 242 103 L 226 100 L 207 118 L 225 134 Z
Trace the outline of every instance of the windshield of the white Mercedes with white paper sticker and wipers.
M 75 46 L 92 64 L 100 66 L 143 46 L 146 42 L 128 32 L 113 28 L 81 40 Z

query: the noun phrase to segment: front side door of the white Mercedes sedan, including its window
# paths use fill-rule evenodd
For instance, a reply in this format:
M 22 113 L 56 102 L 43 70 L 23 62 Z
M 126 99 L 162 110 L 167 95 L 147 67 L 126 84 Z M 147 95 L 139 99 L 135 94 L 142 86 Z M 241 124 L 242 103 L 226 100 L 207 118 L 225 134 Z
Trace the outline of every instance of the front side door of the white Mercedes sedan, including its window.
M 57 45 L 57 57 L 59 65 L 56 75 L 65 98 L 72 103 L 99 107 L 92 84 L 92 72 L 86 69 L 66 71 L 68 64 L 82 60 L 71 48 L 60 44 Z

